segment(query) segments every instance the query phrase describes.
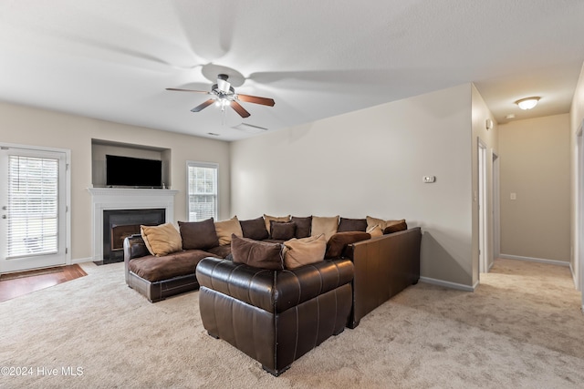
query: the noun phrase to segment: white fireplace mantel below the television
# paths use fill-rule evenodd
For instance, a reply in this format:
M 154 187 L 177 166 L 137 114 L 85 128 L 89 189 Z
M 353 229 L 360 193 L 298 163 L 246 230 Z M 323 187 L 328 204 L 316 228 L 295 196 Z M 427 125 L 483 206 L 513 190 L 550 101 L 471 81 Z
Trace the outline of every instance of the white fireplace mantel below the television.
M 103 261 L 103 211 L 164 209 L 166 221 L 174 222 L 174 195 L 171 189 L 88 188 L 93 220 L 93 261 Z

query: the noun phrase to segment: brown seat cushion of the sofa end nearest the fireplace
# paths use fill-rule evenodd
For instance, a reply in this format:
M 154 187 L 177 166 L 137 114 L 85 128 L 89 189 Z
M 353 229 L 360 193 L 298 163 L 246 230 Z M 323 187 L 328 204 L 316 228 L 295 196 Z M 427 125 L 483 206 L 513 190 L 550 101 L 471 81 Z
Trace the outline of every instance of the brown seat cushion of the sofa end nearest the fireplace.
M 130 260 L 128 269 L 144 280 L 158 282 L 194 274 L 197 264 L 205 257 L 216 255 L 203 250 L 177 251 L 163 257 L 146 255 Z

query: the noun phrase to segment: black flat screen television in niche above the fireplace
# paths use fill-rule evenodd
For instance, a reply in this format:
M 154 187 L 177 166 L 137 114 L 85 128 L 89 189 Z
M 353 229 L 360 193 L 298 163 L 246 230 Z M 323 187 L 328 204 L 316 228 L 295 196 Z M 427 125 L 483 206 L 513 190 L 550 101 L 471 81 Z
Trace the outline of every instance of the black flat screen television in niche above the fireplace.
M 162 188 L 162 160 L 106 155 L 106 185 Z

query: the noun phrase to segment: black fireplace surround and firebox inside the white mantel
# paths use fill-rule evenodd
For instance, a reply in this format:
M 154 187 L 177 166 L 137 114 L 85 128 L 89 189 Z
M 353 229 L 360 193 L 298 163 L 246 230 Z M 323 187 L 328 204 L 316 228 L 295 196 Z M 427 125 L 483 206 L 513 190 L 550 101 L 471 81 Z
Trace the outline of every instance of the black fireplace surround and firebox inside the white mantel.
M 98 265 L 124 260 L 123 242 L 132 234 L 140 233 L 140 226 L 155 226 L 166 220 L 166 210 L 104 210 L 103 260 Z

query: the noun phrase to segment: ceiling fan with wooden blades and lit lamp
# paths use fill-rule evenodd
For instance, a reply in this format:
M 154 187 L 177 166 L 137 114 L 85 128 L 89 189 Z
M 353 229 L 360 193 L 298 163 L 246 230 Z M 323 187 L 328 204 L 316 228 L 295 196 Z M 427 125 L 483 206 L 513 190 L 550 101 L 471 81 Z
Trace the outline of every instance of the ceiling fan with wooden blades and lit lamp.
M 211 95 L 207 101 L 203 102 L 203 104 L 198 105 L 191 109 L 192 112 L 199 112 L 203 108 L 209 107 L 213 103 L 215 105 L 221 107 L 221 110 L 224 111 L 225 107 L 232 107 L 235 109 L 235 112 L 239 114 L 242 118 L 249 117 L 249 112 L 245 110 L 244 107 L 239 104 L 239 101 L 245 101 L 246 103 L 255 103 L 261 104 L 263 106 L 274 107 L 276 102 L 273 98 L 266 98 L 266 97 L 257 97 L 257 96 L 250 96 L 250 95 L 242 95 L 239 93 L 235 93 L 234 87 L 231 86 L 227 79 L 229 76 L 227 75 L 219 75 L 217 76 L 217 83 L 211 87 L 211 92 L 205 92 L 203 90 L 193 90 L 193 89 L 180 89 L 176 87 L 167 87 L 166 90 L 176 90 L 179 92 L 195 92 L 195 93 L 206 93 L 207 95 Z

